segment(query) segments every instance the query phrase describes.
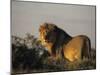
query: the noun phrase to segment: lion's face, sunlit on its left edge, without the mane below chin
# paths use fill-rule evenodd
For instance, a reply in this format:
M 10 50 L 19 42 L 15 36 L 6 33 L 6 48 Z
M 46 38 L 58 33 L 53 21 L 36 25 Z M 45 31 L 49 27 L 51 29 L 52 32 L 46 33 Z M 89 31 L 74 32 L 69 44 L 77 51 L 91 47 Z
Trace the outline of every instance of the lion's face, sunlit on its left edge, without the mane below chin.
M 39 39 L 42 43 L 44 42 L 50 42 L 50 40 L 53 40 L 52 37 L 54 38 L 55 35 L 55 25 L 49 24 L 49 23 L 44 23 L 40 26 L 39 28 Z

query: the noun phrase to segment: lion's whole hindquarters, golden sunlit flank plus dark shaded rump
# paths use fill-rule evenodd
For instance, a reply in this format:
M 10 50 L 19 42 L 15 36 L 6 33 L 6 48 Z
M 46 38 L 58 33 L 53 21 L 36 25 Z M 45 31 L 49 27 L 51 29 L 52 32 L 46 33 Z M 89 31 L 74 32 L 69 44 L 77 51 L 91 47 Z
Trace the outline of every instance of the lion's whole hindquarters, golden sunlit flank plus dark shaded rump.
M 80 61 L 83 57 L 90 58 L 90 41 L 86 36 L 76 36 L 64 45 L 64 57 L 69 61 Z

